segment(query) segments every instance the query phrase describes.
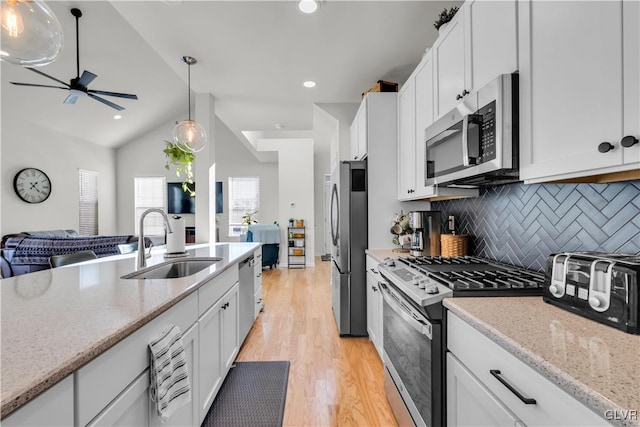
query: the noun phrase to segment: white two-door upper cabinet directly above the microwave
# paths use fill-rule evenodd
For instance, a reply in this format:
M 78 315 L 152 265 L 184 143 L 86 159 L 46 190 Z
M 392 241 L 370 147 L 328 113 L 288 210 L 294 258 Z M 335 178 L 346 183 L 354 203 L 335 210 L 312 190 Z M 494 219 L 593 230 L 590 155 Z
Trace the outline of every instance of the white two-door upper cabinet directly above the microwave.
M 434 119 L 500 74 L 518 70 L 517 4 L 467 1 L 433 45 Z

